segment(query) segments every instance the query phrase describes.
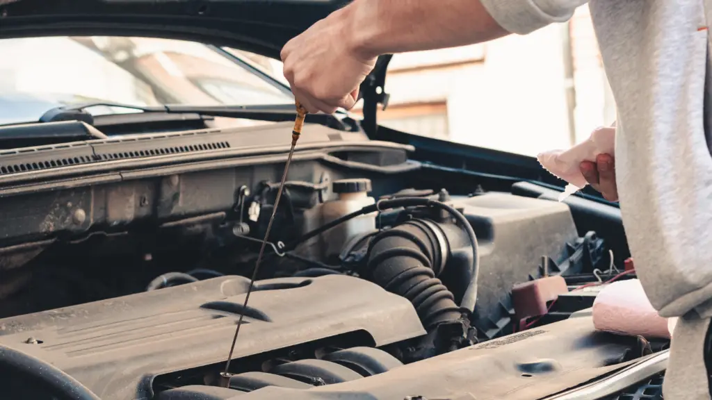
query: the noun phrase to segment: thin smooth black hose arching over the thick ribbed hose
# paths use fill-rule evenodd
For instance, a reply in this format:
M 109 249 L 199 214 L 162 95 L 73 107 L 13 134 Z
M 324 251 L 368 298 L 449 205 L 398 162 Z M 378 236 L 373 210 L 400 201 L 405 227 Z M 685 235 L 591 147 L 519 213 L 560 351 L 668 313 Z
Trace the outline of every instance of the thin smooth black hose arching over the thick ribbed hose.
M 477 236 L 475 235 L 475 231 L 473 231 L 472 226 L 470 223 L 467 221 L 464 215 L 460 211 L 457 211 L 451 206 L 448 206 L 447 204 L 444 204 L 441 201 L 437 200 L 431 200 L 431 199 L 424 199 L 422 197 L 403 197 L 400 199 L 389 199 L 389 200 L 382 200 L 379 201 L 376 204 L 371 204 L 370 206 L 365 206 L 364 208 L 352 212 L 351 214 L 347 214 L 345 216 L 342 216 L 338 219 L 335 219 L 334 221 L 331 221 L 330 223 L 326 223 L 323 226 L 320 226 L 319 228 L 314 229 L 313 231 L 307 232 L 304 235 L 300 236 L 300 238 L 297 238 L 295 241 L 292 241 L 285 247 L 285 251 L 292 251 L 294 250 L 297 246 L 299 246 L 301 243 L 308 241 L 310 238 L 313 238 L 315 236 L 318 236 L 331 228 L 334 228 L 335 226 L 338 226 L 342 223 L 345 223 L 346 221 L 350 221 L 351 219 L 356 218 L 357 216 L 362 216 L 364 214 L 371 214 L 376 211 L 383 211 L 387 209 L 397 209 L 399 207 L 412 207 L 412 206 L 426 206 L 426 207 L 434 207 L 436 209 L 441 209 L 444 211 L 447 211 L 453 218 L 459 223 L 461 228 L 463 228 L 466 233 L 468 238 L 470 239 L 470 246 L 472 247 L 472 266 L 471 266 L 471 273 L 472 273 L 472 280 L 470 281 L 467 290 L 465 290 L 465 294 L 462 297 L 462 301 L 460 302 L 460 307 L 468 310 L 469 312 L 473 312 L 475 310 L 475 304 L 477 302 L 477 282 L 478 282 L 478 275 L 479 275 L 479 270 L 480 270 L 480 258 L 479 258 L 479 247 L 477 244 Z

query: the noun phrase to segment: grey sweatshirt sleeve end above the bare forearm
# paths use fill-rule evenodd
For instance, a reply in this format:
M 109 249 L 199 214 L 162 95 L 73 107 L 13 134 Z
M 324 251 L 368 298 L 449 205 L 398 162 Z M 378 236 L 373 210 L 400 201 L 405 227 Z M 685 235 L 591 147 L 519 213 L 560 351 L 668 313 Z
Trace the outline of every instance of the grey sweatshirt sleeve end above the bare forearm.
M 525 35 L 550 23 L 568 21 L 588 0 L 480 0 L 492 18 L 511 33 Z

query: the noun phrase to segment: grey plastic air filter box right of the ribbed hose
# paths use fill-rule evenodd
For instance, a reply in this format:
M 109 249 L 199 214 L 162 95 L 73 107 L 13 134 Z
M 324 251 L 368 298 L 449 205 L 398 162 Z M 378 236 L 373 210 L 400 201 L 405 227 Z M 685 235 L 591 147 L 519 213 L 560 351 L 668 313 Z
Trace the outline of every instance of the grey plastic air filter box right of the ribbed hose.
M 558 262 L 578 238 L 569 207 L 505 193 L 456 199 L 454 206 L 464 209 L 479 242 L 478 335 L 511 333 L 513 286 L 538 277 L 543 256 Z

